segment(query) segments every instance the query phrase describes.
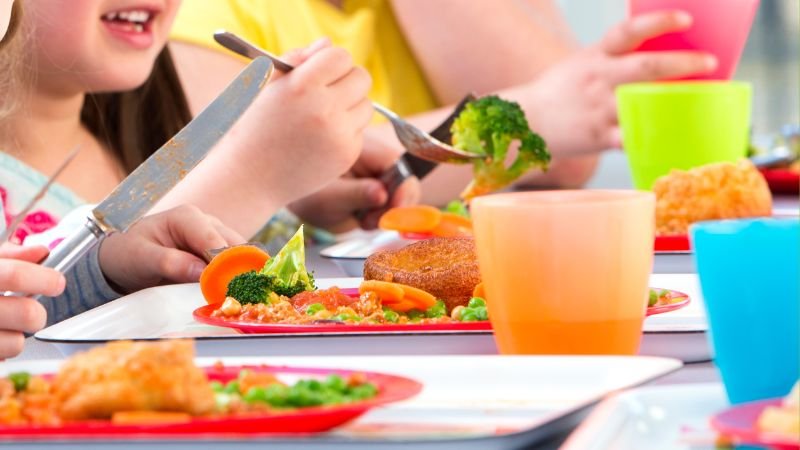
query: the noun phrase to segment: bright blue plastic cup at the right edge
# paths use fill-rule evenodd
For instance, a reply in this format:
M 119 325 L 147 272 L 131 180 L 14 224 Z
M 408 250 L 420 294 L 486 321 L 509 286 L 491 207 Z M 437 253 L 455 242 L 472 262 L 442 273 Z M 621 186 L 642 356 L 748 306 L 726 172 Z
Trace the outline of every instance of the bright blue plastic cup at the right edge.
M 728 399 L 786 395 L 800 366 L 800 220 L 701 222 L 690 232 Z

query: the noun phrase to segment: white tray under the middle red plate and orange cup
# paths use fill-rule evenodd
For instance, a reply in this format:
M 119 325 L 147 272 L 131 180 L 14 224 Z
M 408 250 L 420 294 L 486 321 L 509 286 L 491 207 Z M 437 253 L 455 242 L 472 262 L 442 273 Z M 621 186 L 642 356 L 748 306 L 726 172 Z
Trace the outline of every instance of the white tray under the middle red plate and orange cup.
M 360 281 L 323 278 L 317 280 L 317 285 L 356 287 Z M 696 277 L 656 274 L 650 285 L 685 292 L 691 303 L 645 320 L 641 354 L 675 357 L 684 362 L 708 360 L 707 325 Z M 488 331 L 245 335 L 231 328 L 196 322 L 192 311 L 204 304 L 197 284 L 146 289 L 45 328 L 35 336 L 54 343 L 65 355 L 107 341 L 170 337 L 197 339 L 200 356 L 497 353 Z

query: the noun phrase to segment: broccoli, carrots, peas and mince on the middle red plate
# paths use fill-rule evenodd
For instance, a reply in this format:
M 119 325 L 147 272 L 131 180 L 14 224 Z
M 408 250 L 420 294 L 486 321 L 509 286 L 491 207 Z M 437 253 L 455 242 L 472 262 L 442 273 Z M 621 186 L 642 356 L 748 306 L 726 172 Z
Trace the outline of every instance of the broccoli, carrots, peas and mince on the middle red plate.
M 434 295 L 410 285 L 387 280 L 364 281 L 358 294 L 349 295 L 337 287 L 316 290 L 314 278 L 305 266 L 302 227 L 263 268 L 252 270 L 233 256 L 224 255 L 222 263 L 203 277 L 214 285 L 216 294 L 225 292 L 222 302 L 206 297 L 210 304 L 219 305 L 211 317 L 237 322 L 270 324 L 313 324 L 320 321 L 390 324 L 442 323 L 472 320 L 447 315 L 444 302 Z M 248 256 L 249 257 L 249 256 Z M 231 262 L 232 261 L 232 262 Z M 212 260 L 212 263 L 214 260 Z M 226 264 L 230 263 L 231 268 Z M 247 269 L 247 271 L 242 272 Z M 237 273 L 237 271 L 239 271 Z M 215 277 L 227 280 L 227 286 Z M 205 294 L 207 290 L 203 290 Z

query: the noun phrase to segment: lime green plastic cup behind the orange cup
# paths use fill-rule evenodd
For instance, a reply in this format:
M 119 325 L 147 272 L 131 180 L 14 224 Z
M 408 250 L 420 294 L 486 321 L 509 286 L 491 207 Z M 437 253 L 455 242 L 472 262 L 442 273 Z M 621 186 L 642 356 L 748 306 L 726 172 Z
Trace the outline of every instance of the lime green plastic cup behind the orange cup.
M 672 169 L 735 162 L 747 154 L 748 83 L 632 83 L 619 86 L 616 95 L 636 189 L 651 189 Z

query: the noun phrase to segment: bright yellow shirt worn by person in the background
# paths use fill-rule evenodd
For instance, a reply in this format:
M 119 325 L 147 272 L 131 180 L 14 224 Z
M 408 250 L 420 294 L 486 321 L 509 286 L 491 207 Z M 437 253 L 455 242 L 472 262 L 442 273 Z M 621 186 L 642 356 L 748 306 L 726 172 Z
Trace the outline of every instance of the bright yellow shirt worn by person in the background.
M 388 0 L 184 0 L 171 38 L 227 52 L 213 39 L 221 28 L 276 54 L 327 36 L 372 75 L 373 101 L 401 115 L 437 106 Z

